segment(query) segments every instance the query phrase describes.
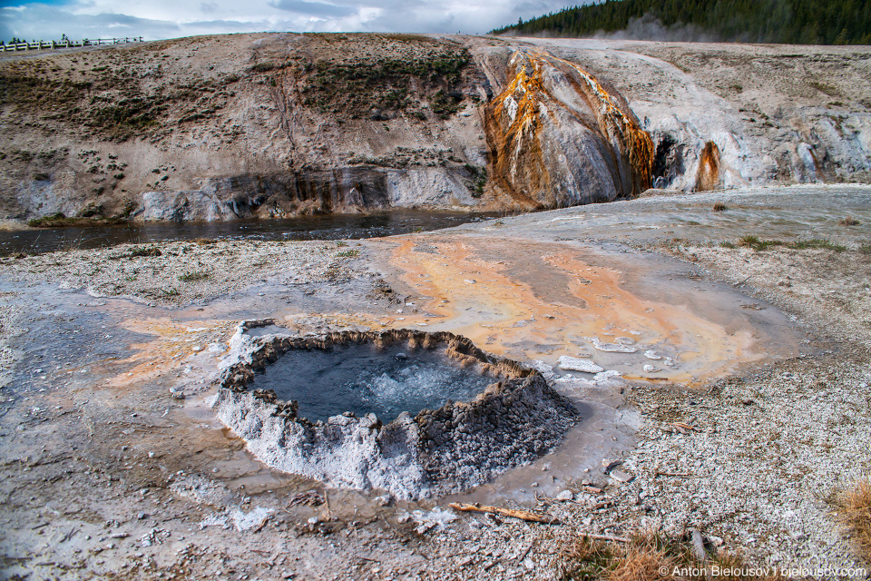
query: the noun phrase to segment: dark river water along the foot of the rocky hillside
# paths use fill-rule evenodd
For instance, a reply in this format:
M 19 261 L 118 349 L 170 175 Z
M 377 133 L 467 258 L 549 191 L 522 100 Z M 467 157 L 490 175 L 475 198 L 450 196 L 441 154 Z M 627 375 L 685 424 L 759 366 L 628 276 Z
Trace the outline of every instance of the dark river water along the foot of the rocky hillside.
M 398 211 L 377 214 L 330 214 L 286 220 L 125 224 L 87 228 L 0 231 L 0 254 L 37 254 L 74 248 L 93 249 L 125 242 L 194 240 L 341 240 L 377 238 L 480 222 L 495 214 Z

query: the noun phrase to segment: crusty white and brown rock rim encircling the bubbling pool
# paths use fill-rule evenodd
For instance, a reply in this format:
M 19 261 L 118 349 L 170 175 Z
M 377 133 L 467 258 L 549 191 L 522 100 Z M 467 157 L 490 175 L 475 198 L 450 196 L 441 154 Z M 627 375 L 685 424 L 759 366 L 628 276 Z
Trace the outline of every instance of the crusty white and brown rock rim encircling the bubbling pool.
M 386 425 L 374 414 L 357 418 L 350 413 L 311 422 L 298 417 L 295 402 L 280 401 L 271 390 L 249 389 L 257 371 L 289 350 L 349 343 L 443 350 L 458 364 L 492 376 L 494 383 L 470 402 L 448 401 L 414 418 L 406 412 Z M 338 487 L 383 488 L 407 498 L 457 492 L 542 456 L 580 419 L 537 371 L 496 359 L 447 332 L 269 335 L 237 352 L 239 360 L 225 369 L 213 403 L 218 418 L 269 467 Z

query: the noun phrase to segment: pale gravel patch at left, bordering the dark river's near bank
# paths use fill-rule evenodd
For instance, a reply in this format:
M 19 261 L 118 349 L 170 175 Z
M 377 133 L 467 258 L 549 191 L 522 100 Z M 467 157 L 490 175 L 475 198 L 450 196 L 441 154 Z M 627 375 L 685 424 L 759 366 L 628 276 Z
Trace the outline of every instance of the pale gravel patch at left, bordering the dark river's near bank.
M 357 251 L 345 242 L 179 241 L 122 244 L 93 251 L 57 251 L 0 259 L 9 280 L 59 281 L 94 296 L 131 297 L 179 306 L 239 291 L 276 273 L 282 284 L 336 280 Z

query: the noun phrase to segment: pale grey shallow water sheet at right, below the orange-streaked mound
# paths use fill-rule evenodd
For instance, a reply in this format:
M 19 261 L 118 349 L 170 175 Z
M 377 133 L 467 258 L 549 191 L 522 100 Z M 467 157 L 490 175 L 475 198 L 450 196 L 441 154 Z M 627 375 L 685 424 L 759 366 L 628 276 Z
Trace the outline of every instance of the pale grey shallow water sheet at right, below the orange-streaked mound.
M 720 203 L 721 211 L 714 211 Z M 854 222 L 845 224 L 845 219 Z M 596 241 L 663 240 L 849 241 L 871 235 L 871 188 L 866 185 L 801 185 L 741 191 L 653 196 L 590 204 L 513 218 L 512 230 L 532 237 Z M 477 231 L 498 234 L 499 221 Z

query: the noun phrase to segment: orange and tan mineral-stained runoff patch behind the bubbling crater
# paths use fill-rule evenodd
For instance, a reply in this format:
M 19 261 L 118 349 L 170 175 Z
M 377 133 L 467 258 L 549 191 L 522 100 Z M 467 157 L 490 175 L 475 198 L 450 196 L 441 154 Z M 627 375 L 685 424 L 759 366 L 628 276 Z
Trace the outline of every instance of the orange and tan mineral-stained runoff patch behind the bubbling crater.
M 426 302 L 406 306 L 382 325 L 450 330 L 519 360 L 553 364 L 562 355 L 585 353 L 626 379 L 690 385 L 768 356 L 748 326 L 726 328 L 687 305 L 641 298 L 624 288 L 623 272 L 588 264 L 572 246 L 434 235 L 426 237 L 426 251 L 416 251 L 420 241 L 398 239 L 389 260 Z M 602 344 L 631 339 L 636 350 L 601 352 L 591 338 Z M 645 350 L 659 359 L 646 358 Z M 666 359 L 674 366 L 664 366 Z

